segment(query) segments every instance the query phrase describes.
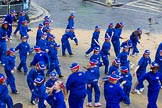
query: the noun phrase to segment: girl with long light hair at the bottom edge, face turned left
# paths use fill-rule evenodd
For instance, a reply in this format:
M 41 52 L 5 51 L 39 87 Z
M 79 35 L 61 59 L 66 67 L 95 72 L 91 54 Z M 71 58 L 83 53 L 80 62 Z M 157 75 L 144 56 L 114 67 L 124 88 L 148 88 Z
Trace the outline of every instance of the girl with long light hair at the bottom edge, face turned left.
M 49 94 L 44 102 L 45 105 L 49 104 L 51 108 L 66 108 L 64 98 L 67 93 L 65 94 L 65 92 L 66 88 L 63 83 L 61 81 L 56 81 L 52 86 L 52 94 Z

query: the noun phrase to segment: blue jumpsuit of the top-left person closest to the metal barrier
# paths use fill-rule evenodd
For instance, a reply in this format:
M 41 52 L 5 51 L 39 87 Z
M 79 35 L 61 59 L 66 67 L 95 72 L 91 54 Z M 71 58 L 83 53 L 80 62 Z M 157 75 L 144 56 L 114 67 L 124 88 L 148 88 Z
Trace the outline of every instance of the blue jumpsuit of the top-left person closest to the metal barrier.
M 12 22 L 14 21 L 15 17 L 12 16 L 11 14 L 8 14 L 4 21 L 7 21 L 9 23 L 9 30 L 8 30 L 8 37 L 10 38 L 11 33 L 12 33 Z

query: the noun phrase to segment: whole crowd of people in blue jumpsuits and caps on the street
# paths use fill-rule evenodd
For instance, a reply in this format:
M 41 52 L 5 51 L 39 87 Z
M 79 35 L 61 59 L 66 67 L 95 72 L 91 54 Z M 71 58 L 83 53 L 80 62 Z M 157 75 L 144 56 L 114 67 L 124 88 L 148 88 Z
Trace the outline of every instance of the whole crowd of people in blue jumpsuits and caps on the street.
M 7 50 L 6 40 L 11 40 L 12 23 L 15 14 L 16 12 L 12 10 L 5 17 L 0 28 L 0 63 L 5 70 L 5 75 L 0 73 L 0 107 L 6 108 L 7 105 L 8 108 L 13 108 L 12 97 L 9 95 L 7 86 L 10 86 L 13 94 L 19 94 L 14 77 L 14 72 L 18 71 L 23 72 L 27 76 L 27 84 L 31 91 L 30 103 L 32 105 L 38 103 L 38 108 L 46 108 L 47 105 L 50 105 L 51 108 L 66 108 L 64 100 L 67 99 L 69 108 L 83 108 L 86 96 L 88 96 L 87 107 L 92 107 L 93 89 L 95 92 L 94 107 L 100 107 L 99 86 L 103 83 L 106 101 L 106 105 L 103 106 L 106 108 L 120 108 L 120 102 L 126 105 L 131 104 L 131 92 L 141 94 L 144 91 L 144 80 L 147 80 L 149 83 L 147 108 L 158 108 L 156 102 L 162 85 L 162 44 L 159 45 L 153 62 L 150 58 L 150 50 L 146 49 L 134 73 L 130 72 L 134 64 L 130 62 L 129 56 L 135 57 L 139 53 L 137 43 L 142 46 L 139 41 L 142 35 L 141 28 L 137 28 L 130 35 L 130 39 L 120 44 L 120 39 L 124 39 L 124 37 L 121 37 L 124 24 L 119 22 L 114 27 L 114 24 L 110 23 L 105 33 L 105 41 L 100 46 L 100 26 L 95 26 L 90 48 L 85 52 L 85 57 L 93 52 L 89 59 L 89 65 L 84 66 L 86 71 L 80 71 L 80 65 L 76 62 L 72 63 L 69 66 L 72 73 L 68 77 L 66 84 L 64 84 L 58 80 L 58 78 L 64 77 L 60 69 L 58 48 L 62 47 L 62 56 L 64 57 L 67 56 L 66 50 L 70 56 L 74 55 L 69 39 L 78 45 L 78 39 L 74 32 L 75 14 L 70 14 L 68 18 L 68 25 L 65 33 L 62 35 L 61 45 L 55 41 L 55 36 L 51 33 L 50 23 L 52 20 L 45 16 L 42 24 L 38 25 L 35 46 L 31 48 L 28 43 L 30 38 L 28 32 L 31 29 L 28 28 L 25 11 L 21 11 L 17 28 L 13 33 L 18 38 L 17 32 L 19 31 L 21 42 L 15 48 Z M 109 66 L 111 45 L 113 45 L 116 57 L 112 61 L 111 66 Z M 17 50 L 19 50 L 20 57 L 18 67 L 15 66 L 15 52 Z M 27 55 L 33 51 L 35 51 L 35 55 L 29 65 L 32 68 L 28 70 L 26 64 Z M 148 65 L 151 71 L 146 72 Z M 99 82 L 101 79 L 101 66 L 105 67 L 105 77 Z M 45 73 L 46 69 L 48 71 Z M 137 76 L 137 82 L 133 87 L 132 75 Z M 45 81 L 45 77 L 49 77 L 47 81 Z

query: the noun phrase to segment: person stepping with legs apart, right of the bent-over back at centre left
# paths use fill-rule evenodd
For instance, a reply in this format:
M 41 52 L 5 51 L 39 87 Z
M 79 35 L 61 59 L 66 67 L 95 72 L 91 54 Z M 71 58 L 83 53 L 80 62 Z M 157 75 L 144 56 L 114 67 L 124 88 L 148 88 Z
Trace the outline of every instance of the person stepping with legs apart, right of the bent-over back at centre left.
M 60 45 L 57 43 L 50 45 L 49 52 L 48 52 L 49 59 L 50 59 L 50 67 L 49 67 L 49 70 L 47 71 L 46 76 L 48 76 L 50 72 L 52 72 L 55 69 L 57 74 L 59 75 L 59 78 L 64 77 L 61 74 L 60 63 L 59 63 L 58 54 L 57 54 L 58 53 L 57 50 L 59 47 Z

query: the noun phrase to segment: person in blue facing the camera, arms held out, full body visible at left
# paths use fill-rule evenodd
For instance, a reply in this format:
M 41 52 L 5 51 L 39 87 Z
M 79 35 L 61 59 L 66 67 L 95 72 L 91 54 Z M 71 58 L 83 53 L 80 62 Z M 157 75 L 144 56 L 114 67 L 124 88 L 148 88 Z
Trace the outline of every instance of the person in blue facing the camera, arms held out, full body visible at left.
M 30 45 L 27 42 L 27 38 L 28 38 L 27 36 L 21 37 L 22 42 L 15 48 L 16 51 L 19 50 L 19 57 L 20 57 L 20 64 L 17 67 L 17 70 L 21 72 L 21 68 L 23 67 L 24 75 L 26 75 L 28 72 L 26 60 L 27 55 L 29 55 L 30 52 Z

